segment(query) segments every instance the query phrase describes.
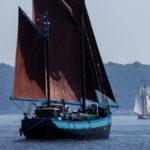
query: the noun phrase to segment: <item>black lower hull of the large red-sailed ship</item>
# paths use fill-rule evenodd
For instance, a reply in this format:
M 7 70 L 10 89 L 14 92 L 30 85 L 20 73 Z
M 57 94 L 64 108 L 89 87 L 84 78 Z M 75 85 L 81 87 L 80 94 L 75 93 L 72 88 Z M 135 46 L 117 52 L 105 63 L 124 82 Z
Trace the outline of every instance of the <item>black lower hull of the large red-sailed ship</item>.
M 89 129 L 60 129 L 50 119 L 24 119 L 22 132 L 27 139 L 108 139 L 111 123 Z

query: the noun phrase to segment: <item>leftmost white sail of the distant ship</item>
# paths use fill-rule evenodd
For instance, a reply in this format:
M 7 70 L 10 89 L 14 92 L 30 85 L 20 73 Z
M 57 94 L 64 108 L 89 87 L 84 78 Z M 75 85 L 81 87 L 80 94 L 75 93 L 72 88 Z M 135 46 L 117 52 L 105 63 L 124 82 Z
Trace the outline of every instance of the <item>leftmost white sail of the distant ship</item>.
M 144 114 L 144 104 L 140 96 L 135 97 L 135 106 L 134 106 L 134 112 L 143 115 Z

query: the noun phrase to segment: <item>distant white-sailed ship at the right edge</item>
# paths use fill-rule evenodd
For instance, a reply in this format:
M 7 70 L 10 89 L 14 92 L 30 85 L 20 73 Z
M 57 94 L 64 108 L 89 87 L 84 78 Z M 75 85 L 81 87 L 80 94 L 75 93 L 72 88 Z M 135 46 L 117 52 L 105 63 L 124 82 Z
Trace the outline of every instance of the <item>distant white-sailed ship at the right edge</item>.
M 150 119 L 150 87 L 142 85 L 135 97 L 134 112 L 138 119 Z

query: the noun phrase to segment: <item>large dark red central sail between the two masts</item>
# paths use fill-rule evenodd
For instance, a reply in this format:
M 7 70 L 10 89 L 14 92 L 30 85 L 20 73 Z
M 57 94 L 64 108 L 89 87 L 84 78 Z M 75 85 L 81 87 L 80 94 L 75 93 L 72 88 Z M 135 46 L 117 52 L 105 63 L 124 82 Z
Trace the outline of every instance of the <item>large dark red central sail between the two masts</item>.
M 71 19 L 71 10 L 64 3 L 51 0 L 45 1 L 45 6 L 47 8 L 44 7 L 43 12 L 45 8 L 48 10 L 50 22 L 50 99 L 80 101 L 82 97 L 80 32 Z

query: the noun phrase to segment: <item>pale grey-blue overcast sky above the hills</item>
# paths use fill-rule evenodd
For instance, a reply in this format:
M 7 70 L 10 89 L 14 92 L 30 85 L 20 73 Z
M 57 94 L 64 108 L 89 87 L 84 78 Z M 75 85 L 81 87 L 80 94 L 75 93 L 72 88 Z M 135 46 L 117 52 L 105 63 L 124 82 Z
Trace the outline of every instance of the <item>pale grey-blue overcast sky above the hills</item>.
M 0 63 L 14 65 L 17 7 L 31 16 L 32 0 L 1 0 Z M 103 61 L 150 64 L 150 0 L 86 0 Z

